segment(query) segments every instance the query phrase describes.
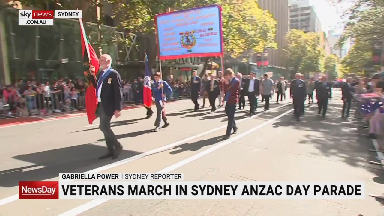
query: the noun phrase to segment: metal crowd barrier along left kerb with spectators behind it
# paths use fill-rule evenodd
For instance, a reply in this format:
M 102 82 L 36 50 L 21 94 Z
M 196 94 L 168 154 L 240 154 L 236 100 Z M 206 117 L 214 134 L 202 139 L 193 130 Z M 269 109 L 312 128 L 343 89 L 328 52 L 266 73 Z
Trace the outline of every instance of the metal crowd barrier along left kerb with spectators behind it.
M 129 89 L 131 90 L 131 89 Z M 167 100 L 180 100 L 190 96 L 190 91 L 176 92 L 175 89 Z M 134 103 L 134 94 L 131 91 L 124 91 L 124 104 Z M 138 103 L 142 103 L 142 96 L 138 98 Z M 44 115 L 47 113 L 60 113 L 63 111 L 84 110 L 85 91 L 79 91 L 77 95 L 60 93 L 50 94 L 22 94 L 10 95 L 8 98 L 0 98 L 0 117 L 12 118 L 20 116 Z

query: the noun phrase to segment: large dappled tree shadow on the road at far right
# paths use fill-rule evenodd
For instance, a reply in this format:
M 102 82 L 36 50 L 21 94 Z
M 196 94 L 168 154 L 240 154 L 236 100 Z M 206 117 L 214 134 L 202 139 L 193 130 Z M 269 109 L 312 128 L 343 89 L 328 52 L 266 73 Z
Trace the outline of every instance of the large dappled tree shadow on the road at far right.
M 336 100 L 336 98 L 334 99 Z M 380 162 L 377 153 L 369 151 L 374 149 L 371 139 L 366 138 L 367 130 L 357 130 L 360 121 L 353 117 L 341 118 L 342 103 L 340 101 L 329 101 L 326 117 L 318 114 L 318 106 L 306 105 L 305 114 L 300 121 L 294 116 L 286 116 L 284 120 L 273 123 L 274 128 L 291 127 L 301 131 L 316 131 L 318 135 L 302 136 L 300 144 L 314 145 L 318 153 L 314 156 L 326 157 L 336 156 L 340 161 L 353 167 L 364 168 L 376 177 L 372 181 L 384 184 L 384 170 L 381 165 L 370 164 L 367 161 Z M 351 109 L 351 116 L 354 115 Z

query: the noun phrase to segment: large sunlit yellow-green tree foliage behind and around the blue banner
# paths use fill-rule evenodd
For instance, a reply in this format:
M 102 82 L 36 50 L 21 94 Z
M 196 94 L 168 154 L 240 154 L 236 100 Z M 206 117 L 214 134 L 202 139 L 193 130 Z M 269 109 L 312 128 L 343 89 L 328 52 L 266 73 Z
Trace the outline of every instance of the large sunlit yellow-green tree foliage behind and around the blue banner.
M 263 48 L 276 48 L 276 21 L 270 13 L 263 11 L 254 0 L 108 0 L 114 3 L 114 14 L 121 15 L 120 27 L 132 33 L 154 33 L 154 17 L 166 12 L 218 4 L 223 7 L 223 34 L 225 55 L 238 58 L 245 52 L 262 52 Z M 126 41 L 125 43 L 129 43 Z M 209 58 L 203 58 L 205 67 Z

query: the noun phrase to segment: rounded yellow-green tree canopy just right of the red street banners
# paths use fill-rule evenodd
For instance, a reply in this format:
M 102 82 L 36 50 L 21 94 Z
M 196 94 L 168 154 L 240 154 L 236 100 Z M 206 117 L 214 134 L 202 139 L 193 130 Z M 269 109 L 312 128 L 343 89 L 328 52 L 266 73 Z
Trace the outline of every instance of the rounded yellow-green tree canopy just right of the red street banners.
M 285 35 L 285 55 L 291 76 L 295 73 L 314 73 L 323 71 L 324 51 L 319 47 L 318 33 L 305 33 L 292 29 Z

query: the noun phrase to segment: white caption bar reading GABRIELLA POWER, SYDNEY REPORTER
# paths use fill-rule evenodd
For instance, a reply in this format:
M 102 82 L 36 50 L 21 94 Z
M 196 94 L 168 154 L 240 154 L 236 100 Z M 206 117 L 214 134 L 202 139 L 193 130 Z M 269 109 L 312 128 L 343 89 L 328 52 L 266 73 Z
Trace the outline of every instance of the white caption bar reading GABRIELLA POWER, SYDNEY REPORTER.
M 60 173 L 59 181 L 183 181 L 184 173 Z

